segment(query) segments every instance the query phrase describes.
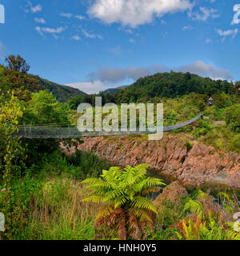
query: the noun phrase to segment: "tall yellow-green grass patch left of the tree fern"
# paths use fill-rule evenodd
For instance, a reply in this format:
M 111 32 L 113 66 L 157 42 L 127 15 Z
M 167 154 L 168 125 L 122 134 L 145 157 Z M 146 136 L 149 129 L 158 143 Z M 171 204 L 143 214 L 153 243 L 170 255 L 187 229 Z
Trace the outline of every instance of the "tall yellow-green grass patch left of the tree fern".
M 82 202 L 87 191 L 72 179 L 53 178 L 42 186 L 42 197 L 32 198 L 19 240 L 89 240 L 95 238 L 98 206 Z

